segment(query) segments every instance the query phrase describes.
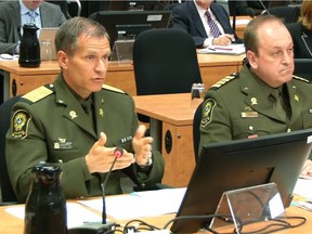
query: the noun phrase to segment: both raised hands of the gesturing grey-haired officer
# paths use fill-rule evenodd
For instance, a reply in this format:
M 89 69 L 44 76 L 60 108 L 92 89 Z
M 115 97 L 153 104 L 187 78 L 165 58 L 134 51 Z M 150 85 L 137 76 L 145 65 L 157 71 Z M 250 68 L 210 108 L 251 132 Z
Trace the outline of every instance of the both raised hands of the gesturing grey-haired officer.
M 127 168 L 134 162 L 140 166 L 147 162 L 152 151 L 151 144 L 153 142 L 153 138 L 144 136 L 145 130 L 145 126 L 142 125 L 135 132 L 135 135 L 132 140 L 134 155 L 123 150 L 122 157 L 117 158 L 113 170 Z M 93 144 L 88 155 L 86 156 L 86 164 L 90 173 L 108 172 L 113 161 L 115 160 L 116 156 L 114 153 L 116 147 L 106 147 L 106 134 L 101 132 L 99 141 Z

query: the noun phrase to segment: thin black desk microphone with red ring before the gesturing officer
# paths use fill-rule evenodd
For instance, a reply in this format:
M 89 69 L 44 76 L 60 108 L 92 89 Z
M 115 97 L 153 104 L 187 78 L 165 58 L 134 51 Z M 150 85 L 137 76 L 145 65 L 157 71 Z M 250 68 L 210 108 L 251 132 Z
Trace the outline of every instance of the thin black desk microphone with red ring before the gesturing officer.
M 118 141 L 119 145 L 132 141 L 132 136 L 126 136 Z M 115 230 L 115 222 L 107 222 L 106 220 L 106 203 L 105 203 L 105 186 L 108 181 L 108 178 L 113 171 L 113 168 L 115 166 L 115 162 L 117 161 L 117 158 L 120 158 L 123 155 L 123 148 L 120 146 L 117 146 L 114 151 L 114 161 L 112 162 L 112 166 L 104 179 L 104 182 L 101 184 L 102 190 L 102 200 L 103 200 L 103 209 L 102 209 L 102 222 L 90 222 L 84 223 L 79 226 L 75 226 L 72 229 L 68 229 L 68 234 L 105 234 L 105 233 L 114 233 Z

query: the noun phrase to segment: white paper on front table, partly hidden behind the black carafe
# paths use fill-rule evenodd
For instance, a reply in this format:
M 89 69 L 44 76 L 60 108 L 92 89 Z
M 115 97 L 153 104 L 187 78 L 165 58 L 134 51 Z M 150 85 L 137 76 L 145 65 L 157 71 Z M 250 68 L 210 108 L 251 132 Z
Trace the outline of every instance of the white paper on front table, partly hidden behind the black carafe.
M 102 217 L 100 214 L 92 212 L 79 204 L 67 202 L 66 209 L 68 227 L 82 225 L 86 222 L 102 222 Z M 25 218 L 25 206 L 9 207 L 5 211 L 18 219 Z

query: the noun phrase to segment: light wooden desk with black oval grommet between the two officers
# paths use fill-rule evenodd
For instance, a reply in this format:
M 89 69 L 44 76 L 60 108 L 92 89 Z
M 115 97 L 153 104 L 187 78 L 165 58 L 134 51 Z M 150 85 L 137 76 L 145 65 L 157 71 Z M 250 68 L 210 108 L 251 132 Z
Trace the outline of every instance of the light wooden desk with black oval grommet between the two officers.
M 151 117 L 153 147 L 165 157 L 162 183 L 187 186 L 195 167 L 191 94 L 133 96 L 136 112 Z

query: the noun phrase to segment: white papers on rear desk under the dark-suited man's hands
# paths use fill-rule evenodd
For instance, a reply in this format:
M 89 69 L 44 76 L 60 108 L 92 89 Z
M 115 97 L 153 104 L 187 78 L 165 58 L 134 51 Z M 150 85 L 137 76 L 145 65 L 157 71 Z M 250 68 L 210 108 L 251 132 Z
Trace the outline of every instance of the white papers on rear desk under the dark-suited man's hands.
M 198 53 L 239 55 L 245 53 L 245 46 L 243 43 L 233 43 L 230 46 L 210 46 L 208 48 L 198 50 Z

